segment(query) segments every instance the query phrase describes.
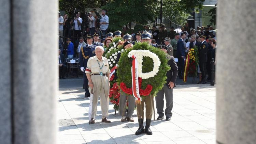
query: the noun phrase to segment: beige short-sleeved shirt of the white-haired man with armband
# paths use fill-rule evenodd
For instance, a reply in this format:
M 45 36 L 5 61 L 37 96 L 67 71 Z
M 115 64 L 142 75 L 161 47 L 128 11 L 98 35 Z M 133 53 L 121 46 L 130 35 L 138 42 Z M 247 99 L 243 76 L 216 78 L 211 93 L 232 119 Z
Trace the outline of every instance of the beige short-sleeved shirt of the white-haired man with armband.
M 97 61 L 99 61 L 99 59 L 97 58 L 96 55 L 94 57 L 89 58 L 85 73 L 90 75 L 99 74 L 100 72 L 102 72 L 103 74 L 110 74 L 108 59 L 105 57 L 102 57 L 101 61 L 99 61 L 100 66 Z M 100 67 L 102 65 L 103 67 L 100 70 Z

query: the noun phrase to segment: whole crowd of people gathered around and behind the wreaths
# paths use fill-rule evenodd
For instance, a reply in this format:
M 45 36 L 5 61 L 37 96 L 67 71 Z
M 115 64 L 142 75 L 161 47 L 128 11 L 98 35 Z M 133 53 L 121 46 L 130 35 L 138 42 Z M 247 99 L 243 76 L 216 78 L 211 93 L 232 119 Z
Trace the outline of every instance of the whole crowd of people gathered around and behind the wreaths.
M 94 21 L 94 18 L 90 17 L 89 19 Z M 207 80 L 210 80 L 210 64 L 211 59 L 215 60 L 215 51 L 216 51 L 216 32 L 213 30 L 213 27 L 209 26 L 207 28 L 197 27 L 196 30 L 190 29 L 188 24 L 181 28 L 181 32 L 174 31 L 172 27 L 168 32 L 165 28 L 165 25 L 161 25 L 160 29 L 157 29 L 156 26 L 152 27 L 152 30 L 148 26 L 145 26 L 144 30 L 138 30 L 134 34 L 122 34 L 121 31 L 117 30 L 115 32 L 108 32 L 108 17 L 105 15 L 105 11 L 102 11 L 102 22 L 100 27 L 103 30 L 101 35 L 99 32 L 96 32 L 93 25 L 90 25 L 90 31 L 92 33 L 86 34 L 86 42 L 84 37 L 79 38 L 79 43 L 77 47 L 71 42 L 70 38 L 66 39 L 67 49 L 63 49 L 63 45 L 60 44 L 59 49 L 59 68 L 60 68 L 60 78 L 65 78 L 65 69 L 66 62 L 65 56 L 62 54 L 62 51 L 67 53 L 67 58 L 73 59 L 74 57 L 79 58 L 80 70 L 84 74 L 84 89 L 85 97 L 91 97 L 92 100 L 92 112 L 91 118 L 89 119 L 91 124 L 95 123 L 95 115 L 97 112 L 97 102 L 100 97 L 101 110 L 102 110 L 102 122 L 111 123 L 108 119 L 108 108 L 109 108 L 109 92 L 110 92 L 110 66 L 108 59 L 103 57 L 104 51 L 110 48 L 110 44 L 113 42 L 113 38 L 122 38 L 123 41 L 119 41 L 116 45 L 123 45 L 124 49 L 132 49 L 133 45 L 138 43 L 147 43 L 150 46 L 158 48 L 168 55 L 168 65 L 171 66 L 171 69 L 166 73 L 167 79 L 166 84 L 163 86 L 162 90 L 157 93 L 156 96 L 156 108 L 159 116 L 157 120 L 162 120 L 163 113 L 163 95 L 165 94 L 166 98 L 166 121 L 170 121 L 172 116 L 172 107 L 173 107 L 173 88 L 175 87 L 176 78 L 183 79 L 184 76 L 184 63 L 186 54 L 189 49 L 193 49 L 195 46 L 198 47 L 198 57 L 199 57 L 199 68 L 198 73 L 200 73 L 199 84 L 204 84 L 205 74 L 208 73 Z M 79 16 L 79 13 L 77 14 Z M 80 21 L 80 18 L 77 17 L 74 21 L 77 22 L 77 26 Z M 64 21 L 65 23 L 65 21 Z M 60 25 L 64 25 L 62 19 L 60 18 Z M 74 22 L 75 23 L 75 22 Z M 108 32 L 108 33 L 107 33 Z M 101 39 L 100 39 L 101 37 Z M 103 38 L 104 37 L 104 38 Z M 60 38 L 61 40 L 61 38 Z M 63 41 L 59 42 L 63 44 Z M 62 46 L 62 47 L 61 47 Z M 118 63 L 120 58 L 120 53 L 117 55 Z M 175 59 L 176 58 L 176 59 Z M 177 63 L 176 63 L 177 62 Z M 216 62 L 216 61 L 215 61 Z M 116 67 L 118 70 L 118 67 Z M 91 96 L 93 95 L 93 96 Z M 129 98 L 128 98 L 129 97 Z M 132 96 L 126 96 L 121 94 L 119 98 L 119 114 L 122 115 L 122 122 L 129 121 L 133 122 L 132 114 L 135 107 L 135 98 Z M 125 114 L 122 112 L 122 107 L 125 106 L 125 101 L 128 98 L 128 109 L 125 109 Z M 142 99 L 141 103 L 136 104 L 137 117 L 139 122 L 139 128 L 135 134 L 146 133 L 148 135 L 152 134 L 150 129 L 151 119 L 153 115 L 152 103 L 154 99 L 151 96 L 145 97 Z M 144 107 L 145 107 L 145 117 L 146 117 L 146 126 L 144 128 Z

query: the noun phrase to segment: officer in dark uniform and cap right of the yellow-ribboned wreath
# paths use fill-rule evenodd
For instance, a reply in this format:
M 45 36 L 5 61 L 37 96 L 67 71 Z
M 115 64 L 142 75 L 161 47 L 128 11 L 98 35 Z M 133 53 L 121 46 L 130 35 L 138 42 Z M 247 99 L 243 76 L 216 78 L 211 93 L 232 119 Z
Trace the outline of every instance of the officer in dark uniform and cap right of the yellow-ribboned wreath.
M 199 81 L 199 84 L 205 84 L 205 67 L 207 62 L 207 50 L 208 50 L 208 44 L 205 41 L 206 36 L 201 36 L 201 47 L 198 50 L 198 56 L 199 56 L 199 67 L 202 73 L 201 81 Z

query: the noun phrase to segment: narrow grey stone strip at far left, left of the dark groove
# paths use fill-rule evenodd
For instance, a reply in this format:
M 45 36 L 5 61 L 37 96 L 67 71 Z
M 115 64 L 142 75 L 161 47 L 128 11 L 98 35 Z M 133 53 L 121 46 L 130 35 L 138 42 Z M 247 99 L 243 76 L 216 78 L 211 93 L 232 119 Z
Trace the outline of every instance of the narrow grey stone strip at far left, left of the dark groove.
M 11 144 L 10 1 L 0 5 L 0 143 Z

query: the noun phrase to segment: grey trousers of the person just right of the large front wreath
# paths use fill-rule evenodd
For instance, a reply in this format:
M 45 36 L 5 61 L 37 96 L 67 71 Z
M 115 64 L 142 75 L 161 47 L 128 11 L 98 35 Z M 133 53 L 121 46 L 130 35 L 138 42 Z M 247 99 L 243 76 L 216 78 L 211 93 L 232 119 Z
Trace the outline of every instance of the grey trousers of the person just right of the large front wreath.
M 163 89 L 160 90 L 156 94 L 156 109 L 159 116 L 163 116 L 163 94 L 165 94 L 166 100 L 166 109 L 165 109 L 165 116 L 171 117 L 172 116 L 172 107 L 173 107 L 173 89 L 169 89 L 169 86 L 164 84 Z

